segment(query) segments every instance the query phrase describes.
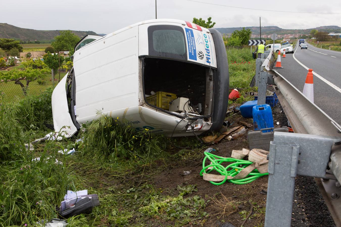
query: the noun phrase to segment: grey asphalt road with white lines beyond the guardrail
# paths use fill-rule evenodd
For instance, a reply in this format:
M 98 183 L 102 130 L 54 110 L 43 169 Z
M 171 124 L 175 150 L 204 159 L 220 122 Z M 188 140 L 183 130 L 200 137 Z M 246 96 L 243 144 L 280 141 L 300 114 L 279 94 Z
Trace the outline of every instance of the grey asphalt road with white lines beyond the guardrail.
M 287 53 L 281 64 L 284 68 L 276 70 L 301 92 L 308 73 L 304 66 L 313 69 L 314 103 L 341 125 L 341 52 L 296 45 L 295 53 Z

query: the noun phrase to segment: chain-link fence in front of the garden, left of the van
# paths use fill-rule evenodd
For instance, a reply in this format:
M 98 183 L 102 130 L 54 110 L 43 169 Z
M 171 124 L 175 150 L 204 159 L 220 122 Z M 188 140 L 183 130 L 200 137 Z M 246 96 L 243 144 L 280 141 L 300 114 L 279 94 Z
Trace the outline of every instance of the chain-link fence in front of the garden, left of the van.
M 66 71 L 58 71 L 53 73 L 47 72 L 42 77 L 30 81 L 27 86 L 27 80 L 19 81 L 0 81 L 0 92 L 4 94 L 5 102 L 13 102 L 25 97 L 25 92 L 30 95 L 39 95 L 46 90 L 47 87 L 55 87 L 58 82 L 66 75 Z M 21 84 L 24 86 L 21 86 Z

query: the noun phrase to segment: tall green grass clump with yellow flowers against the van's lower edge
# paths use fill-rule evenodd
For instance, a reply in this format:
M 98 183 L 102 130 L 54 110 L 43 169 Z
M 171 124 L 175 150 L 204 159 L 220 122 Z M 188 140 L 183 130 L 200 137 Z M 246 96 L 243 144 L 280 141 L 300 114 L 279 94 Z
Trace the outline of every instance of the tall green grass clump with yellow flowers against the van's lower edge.
M 163 136 L 149 133 L 148 129 L 137 132 L 127 122 L 120 122 L 117 117 L 99 114 L 99 118 L 84 125 L 86 129 L 81 136 L 84 136 L 81 149 L 83 154 L 98 155 L 108 157 L 115 161 L 118 157 L 124 158 L 144 158 L 161 153 L 166 148 L 162 143 Z

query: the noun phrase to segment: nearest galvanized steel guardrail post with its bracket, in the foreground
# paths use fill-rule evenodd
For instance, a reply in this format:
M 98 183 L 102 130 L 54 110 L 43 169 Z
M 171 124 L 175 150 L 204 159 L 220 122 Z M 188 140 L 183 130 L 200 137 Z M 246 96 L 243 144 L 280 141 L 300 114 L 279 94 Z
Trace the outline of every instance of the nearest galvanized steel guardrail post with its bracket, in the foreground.
M 332 136 L 274 132 L 268 158 L 265 227 L 290 226 L 295 177 L 327 178 L 331 147 L 338 140 Z

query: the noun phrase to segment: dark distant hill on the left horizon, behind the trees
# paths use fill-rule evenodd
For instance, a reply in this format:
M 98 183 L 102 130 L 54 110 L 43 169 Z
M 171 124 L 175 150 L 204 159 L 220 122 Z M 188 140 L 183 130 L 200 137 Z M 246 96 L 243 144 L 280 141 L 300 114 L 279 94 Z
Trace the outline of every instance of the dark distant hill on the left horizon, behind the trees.
M 0 23 L 0 38 L 14 38 L 21 39 L 24 41 L 34 41 L 39 40 L 41 42 L 48 42 L 54 39 L 55 36 L 59 35 L 59 31 L 62 30 L 34 30 L 27 28 L 19 28 L 13 25 L 9 25 L 8 23 Z M 87 34 L 89 35 L 97 35 L 92 31 L 72 31 L 75 35 L 79 37 L 83 37 Z

